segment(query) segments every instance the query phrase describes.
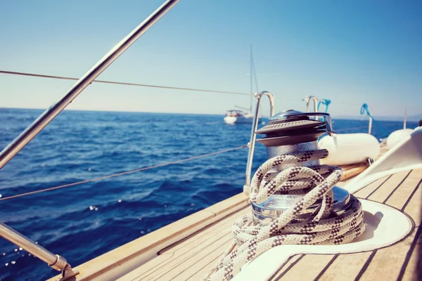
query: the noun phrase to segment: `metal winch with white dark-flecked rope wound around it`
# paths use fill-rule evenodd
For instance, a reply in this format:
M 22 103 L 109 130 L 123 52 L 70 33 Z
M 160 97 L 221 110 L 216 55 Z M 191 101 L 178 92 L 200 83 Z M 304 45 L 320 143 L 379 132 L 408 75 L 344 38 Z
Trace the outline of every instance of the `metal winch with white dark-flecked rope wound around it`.
M 266 146 L 269 159 L 247 181 L 252 214 L 233 224 L 238 247 L 231 245 L 223 254 L 210 281 L 231 280 L 245 263 L 274 247 L 346 244 L 365 231 L 361 202 L 335 186 L 343 171 L 319 163 L 328 157 L 328 150 L 318 148 L 319 136 L 335 136 L 330 115 L 286 110 L 272 115 L 262 129 L 256 131 L 256 123 L 252 129 L 248 159 L 255 133 L 265 135 L 257 141 Z

